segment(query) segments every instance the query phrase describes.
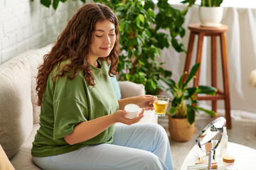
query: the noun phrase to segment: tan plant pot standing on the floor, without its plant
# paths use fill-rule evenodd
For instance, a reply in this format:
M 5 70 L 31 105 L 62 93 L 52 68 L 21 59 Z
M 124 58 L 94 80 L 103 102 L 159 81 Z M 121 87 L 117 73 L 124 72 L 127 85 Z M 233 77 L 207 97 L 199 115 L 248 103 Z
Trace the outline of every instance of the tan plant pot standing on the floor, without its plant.
M 187 118 L 169 118 L 169 132 L 171 139 L 178 142 L 186 142 L 191 139 L 191 136 L 195 132 L 195 123 L 190 125 Z

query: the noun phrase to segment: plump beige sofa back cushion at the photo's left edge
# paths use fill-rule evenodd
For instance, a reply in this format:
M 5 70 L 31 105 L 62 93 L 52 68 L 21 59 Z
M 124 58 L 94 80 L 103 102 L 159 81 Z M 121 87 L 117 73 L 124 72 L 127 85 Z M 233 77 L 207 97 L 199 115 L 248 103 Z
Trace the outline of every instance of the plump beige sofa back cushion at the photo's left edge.
M 0 144 L 11 158 L 33 126 L 31 69 L 27 58 L 0 66 Z

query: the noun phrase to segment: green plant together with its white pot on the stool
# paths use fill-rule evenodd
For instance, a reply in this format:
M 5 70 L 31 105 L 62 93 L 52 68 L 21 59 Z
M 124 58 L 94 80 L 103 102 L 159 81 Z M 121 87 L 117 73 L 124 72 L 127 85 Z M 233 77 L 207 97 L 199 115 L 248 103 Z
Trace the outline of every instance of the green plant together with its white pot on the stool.
M 223 18 L 223 0 L 185 0 L 181 1 L 183 4 L 192 6 L 193 4 L 199 5 L 199 18 L 201 26 L 206 27 L 219 27 L 221 26 L 221 19 Z

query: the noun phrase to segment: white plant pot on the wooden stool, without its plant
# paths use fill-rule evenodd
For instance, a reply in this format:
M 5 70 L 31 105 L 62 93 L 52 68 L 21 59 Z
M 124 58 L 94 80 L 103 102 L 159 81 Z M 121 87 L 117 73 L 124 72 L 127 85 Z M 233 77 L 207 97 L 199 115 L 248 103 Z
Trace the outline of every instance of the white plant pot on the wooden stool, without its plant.
M 206 27 L 219 27 L 223 18 L 223 6 L 218 7 L 199 7 L 199 18 L 201 26 Z

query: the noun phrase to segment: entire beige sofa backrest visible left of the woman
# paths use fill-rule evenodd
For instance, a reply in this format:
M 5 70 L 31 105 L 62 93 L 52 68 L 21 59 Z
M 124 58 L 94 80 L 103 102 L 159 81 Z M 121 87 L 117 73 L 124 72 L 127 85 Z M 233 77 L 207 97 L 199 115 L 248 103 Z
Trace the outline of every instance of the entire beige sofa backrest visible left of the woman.
M 9 158 L 39 123 L 36 75 L 51 47 L 29 50 L 0 65 L 0 144 Z

